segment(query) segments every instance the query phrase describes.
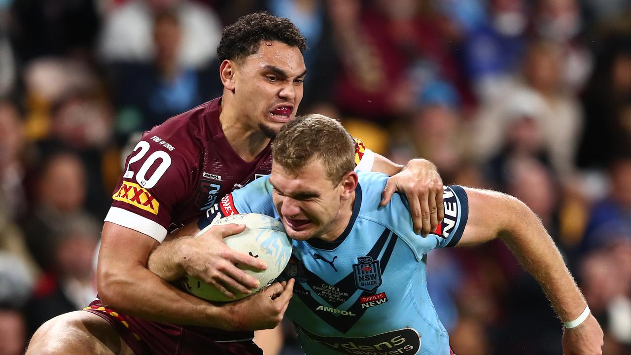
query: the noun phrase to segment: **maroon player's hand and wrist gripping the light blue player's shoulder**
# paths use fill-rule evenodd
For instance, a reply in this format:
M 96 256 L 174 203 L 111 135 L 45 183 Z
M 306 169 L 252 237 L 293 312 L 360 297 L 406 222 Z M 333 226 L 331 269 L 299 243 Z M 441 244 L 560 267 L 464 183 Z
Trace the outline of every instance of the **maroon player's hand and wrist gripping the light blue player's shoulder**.
M 386 184 L 380 205 L 385 206 L 395 191 L 404 193 L 416 234 L 434 231 L 445 216 L 442 204 L 442 179 L 429 160 L 412 159 L 407 165 L 394 164 L 375 153 L 372 171 L 392 176 Z

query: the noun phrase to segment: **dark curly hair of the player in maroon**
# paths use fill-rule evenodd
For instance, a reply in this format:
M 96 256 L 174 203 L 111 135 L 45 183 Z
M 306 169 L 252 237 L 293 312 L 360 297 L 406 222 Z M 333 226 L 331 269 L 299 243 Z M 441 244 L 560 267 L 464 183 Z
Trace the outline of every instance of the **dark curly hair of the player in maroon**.
M 225 59 L 238 61 L 259 51 L 261 40 L 278 40 L 300 52 L 307 49 L 307 40 L 288 18 L 261 11 L 241 16 L 237 22 L 221 31 L 217 47 L 219 63 Z

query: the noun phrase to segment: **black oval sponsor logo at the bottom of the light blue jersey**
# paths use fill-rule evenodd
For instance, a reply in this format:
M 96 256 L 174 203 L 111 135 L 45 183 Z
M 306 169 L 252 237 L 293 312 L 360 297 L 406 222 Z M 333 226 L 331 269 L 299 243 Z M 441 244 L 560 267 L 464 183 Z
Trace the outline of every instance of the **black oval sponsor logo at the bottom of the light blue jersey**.
M 307 339 L 329 347 L 341 354 L 391 355 L 416 354 L 421 347 L 421 337 L 412 328 L 403 328 L 392 332 L 363 338 L 322 337 L 308 332 L 296 324 L 300 334 Z

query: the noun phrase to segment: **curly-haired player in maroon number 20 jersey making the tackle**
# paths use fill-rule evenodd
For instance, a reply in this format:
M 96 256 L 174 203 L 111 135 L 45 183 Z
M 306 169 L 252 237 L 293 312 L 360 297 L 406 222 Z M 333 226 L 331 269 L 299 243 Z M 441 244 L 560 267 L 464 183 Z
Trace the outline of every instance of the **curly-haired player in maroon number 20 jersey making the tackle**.
M 270 141 L 295 117 L 306 68 L 305 39 L 287 19 L 256 13 L 223 31 L 218 47 L 223 96 L 144 133 L 129 155 L 102 233 L 99 298 L 86 311 L 61 315 L 33 335 L 27 354 L 261 354 L 252 330 L 274 328 L 293 281 L 274 283 L 233 303 L 212 304 L 180 291 L 146 268 L 168 232 L 199 219 L 218 197 L 269 174 Z M 357 144 L 360 169 L 393 176 L 408 195 L 418 231 L 442 219 L 442 181 L 427 160 L 407 167 Z M 363 166 L 362 166 L 363 165 Z M 403 169 L 402 169 L 403 168 Z M 243 227 L 211 229 L 194 243 L 187 270 L 227 295 L 257 281 L 235 267 L 266 265 L 228 249 L 221 238 Z

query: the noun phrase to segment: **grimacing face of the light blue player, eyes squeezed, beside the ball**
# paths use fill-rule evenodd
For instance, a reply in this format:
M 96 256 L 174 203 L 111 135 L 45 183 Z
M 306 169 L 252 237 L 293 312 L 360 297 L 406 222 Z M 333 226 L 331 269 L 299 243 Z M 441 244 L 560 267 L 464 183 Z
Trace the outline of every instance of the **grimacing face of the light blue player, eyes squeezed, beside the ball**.
M 334 229 L 343 187 L 333 186 L 320 160 L 305 165 L 298 174 L 274 163 L 269 182 L 274 206 L 290 238 L 321 238 Z

